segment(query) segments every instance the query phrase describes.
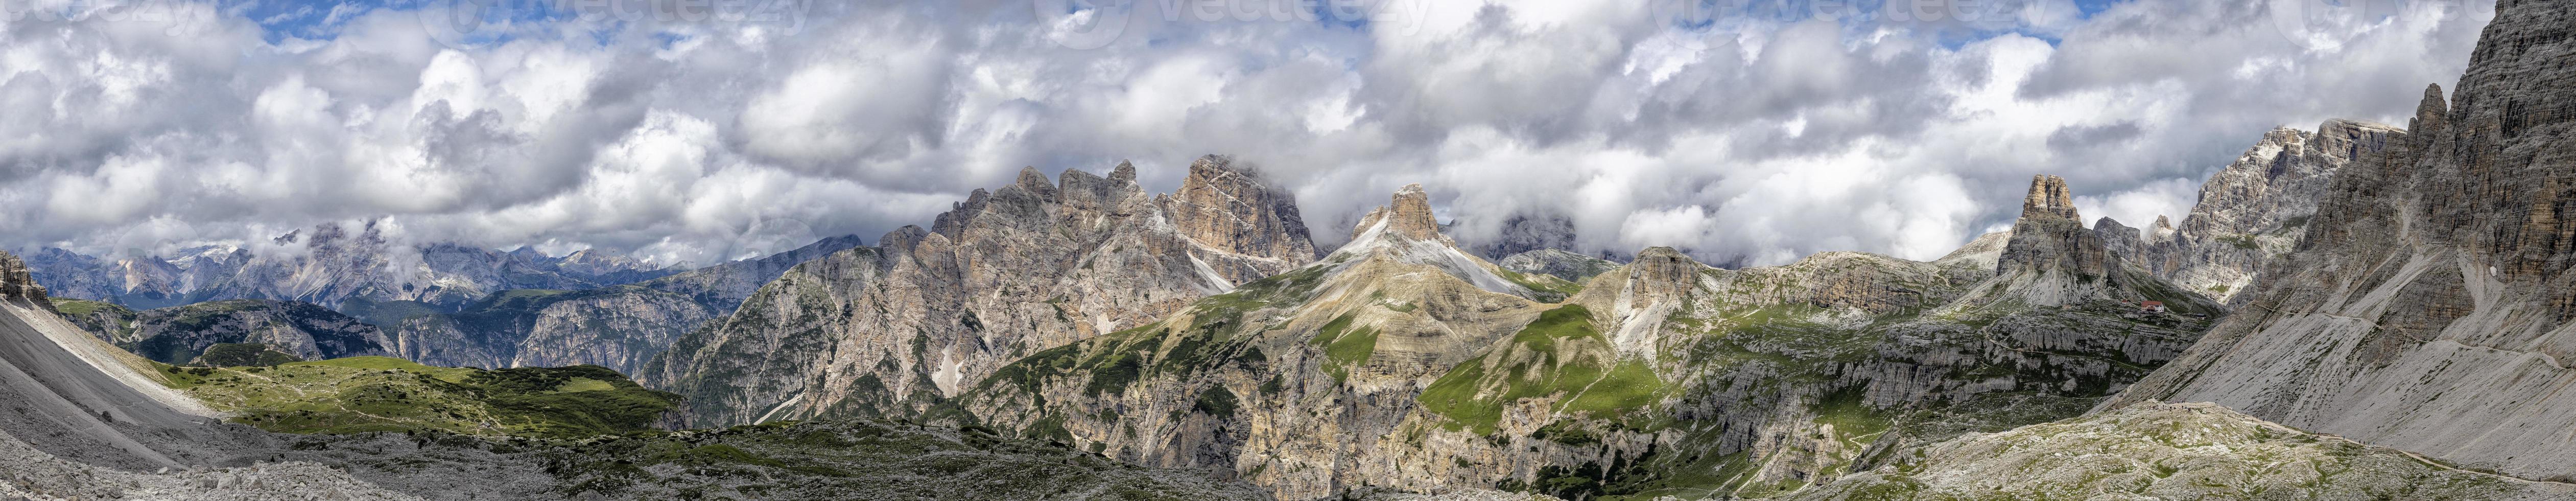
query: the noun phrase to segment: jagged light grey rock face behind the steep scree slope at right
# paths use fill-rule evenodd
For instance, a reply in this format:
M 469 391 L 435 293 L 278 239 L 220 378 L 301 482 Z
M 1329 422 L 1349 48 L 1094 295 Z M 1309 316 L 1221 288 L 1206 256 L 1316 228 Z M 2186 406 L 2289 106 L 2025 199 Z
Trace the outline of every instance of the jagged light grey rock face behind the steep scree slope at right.
M 2316 132 L 2272 129 L 2200 186 L 2200 204 L 2182 227 L 2156 217 L 2143 245 L 2123 256 L 2166 281 L 2231 302 L 2275 256 L 2308 235 L 2316 201 L 2339 173 L 2403 139 L 2403 129 L 2347 119 Z

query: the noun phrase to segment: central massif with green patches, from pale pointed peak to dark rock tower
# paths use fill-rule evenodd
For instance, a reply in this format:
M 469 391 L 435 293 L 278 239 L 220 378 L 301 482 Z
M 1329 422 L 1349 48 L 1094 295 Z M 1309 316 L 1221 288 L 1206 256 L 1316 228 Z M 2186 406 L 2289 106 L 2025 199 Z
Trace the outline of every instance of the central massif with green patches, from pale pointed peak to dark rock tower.
M 2032 220 L 2063 225 L 1942 263 L 1819 253 L 1731 271 L 1649 248 L 1577 289 L 1425 235 L 1409 186 L 1314 266 L 1038 351 L 930 418 L 1231 467 L 1278 498 L 1795 488 L 1839 475 L 1899 413 L 2102 398 L 2205 328 L 2120 300 L 2218 312 L 2084 240 L 2063 183 L 2040 189 Z M 2087 263 L 2102 271 L 2079 276 Z

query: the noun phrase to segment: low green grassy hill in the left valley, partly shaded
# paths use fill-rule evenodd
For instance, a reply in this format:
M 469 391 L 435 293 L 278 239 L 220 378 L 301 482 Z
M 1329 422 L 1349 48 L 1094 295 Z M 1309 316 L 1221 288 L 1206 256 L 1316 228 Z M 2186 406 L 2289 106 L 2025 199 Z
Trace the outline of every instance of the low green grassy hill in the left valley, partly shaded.
M 680 403 L 605 367 L 446 369 L 355 356 L 278 367 L 162 367 L 170 385 L 286 434 L 453 431 L 590 436 L 647 429 Z

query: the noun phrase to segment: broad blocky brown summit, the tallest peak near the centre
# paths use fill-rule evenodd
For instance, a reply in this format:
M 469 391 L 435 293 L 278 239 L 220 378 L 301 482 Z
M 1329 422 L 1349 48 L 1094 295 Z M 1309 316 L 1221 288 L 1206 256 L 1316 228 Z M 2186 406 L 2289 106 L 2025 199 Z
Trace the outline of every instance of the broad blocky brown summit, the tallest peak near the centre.
M 1180 235 L 1200 245 L 1291 263 L 1314 261 L 1314 238 L 1296 196 L 1273 189 L 1257 170 L 1236 168 L 1231 158 L 1206 155 L 1190 163 L 1170 209 Z

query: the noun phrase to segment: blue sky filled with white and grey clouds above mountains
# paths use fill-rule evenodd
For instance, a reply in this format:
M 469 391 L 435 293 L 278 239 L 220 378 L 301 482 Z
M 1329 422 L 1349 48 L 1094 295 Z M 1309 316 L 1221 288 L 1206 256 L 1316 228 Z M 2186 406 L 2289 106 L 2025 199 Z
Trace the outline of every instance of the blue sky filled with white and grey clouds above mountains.
M 0 248 L 404 243 L 716 263 L 876 240 L 1020 168 L 1200 155 L 1324 245 L 1937 258 L 2030 176 L 2177 222 L 2267 129 L 2403 127 L 2494 0 L 0 0 Z

